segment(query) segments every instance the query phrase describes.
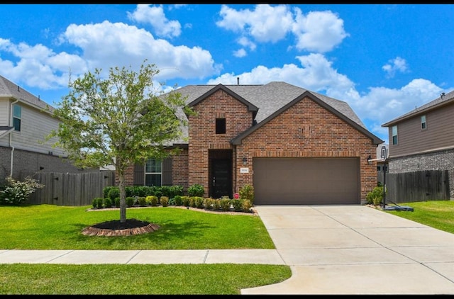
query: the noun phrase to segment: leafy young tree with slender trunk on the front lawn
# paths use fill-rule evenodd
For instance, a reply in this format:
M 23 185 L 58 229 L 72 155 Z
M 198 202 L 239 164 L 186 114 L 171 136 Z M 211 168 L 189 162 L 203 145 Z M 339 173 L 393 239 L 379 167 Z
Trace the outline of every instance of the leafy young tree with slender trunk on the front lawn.
M 181 94 L 153 89 L 159 70 L 145 62 L 140 72 L 115 67 L 107 79 L 101 78 L 101 69 L 70 79 L 70 92 L 54 111 L 59 127 L 47 137 L 57 137 L 53 146 L 64 149 L 78 167 L 115 165 L 120 222 L 126 222 L 126 169 L 175 152 L 165 147 L 182 137 L 182 125 L 187 125 L 178 115 L 192 113 Z

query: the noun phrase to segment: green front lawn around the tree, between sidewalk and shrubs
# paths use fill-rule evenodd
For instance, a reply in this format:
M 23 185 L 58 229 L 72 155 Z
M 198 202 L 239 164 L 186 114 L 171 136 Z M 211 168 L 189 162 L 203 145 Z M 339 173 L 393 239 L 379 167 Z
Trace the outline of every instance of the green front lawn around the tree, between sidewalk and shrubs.
M 119 220 L 120 211 L 91 206 L 1 206 L 0 249 L 274 249 L 256 215 L 204 213 L 175 207 L 127 208 L 126 218 L 160 225 L 143 235 L 82 235 L 84 227 Z

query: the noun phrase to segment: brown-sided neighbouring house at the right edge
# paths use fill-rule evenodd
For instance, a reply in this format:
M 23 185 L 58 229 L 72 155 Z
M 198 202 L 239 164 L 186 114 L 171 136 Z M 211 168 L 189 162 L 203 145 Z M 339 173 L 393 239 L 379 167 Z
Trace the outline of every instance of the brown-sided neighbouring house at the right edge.
M 454 198 L 454 91 L 382 127 L 389 131 L 389 174 L 448 170 Z

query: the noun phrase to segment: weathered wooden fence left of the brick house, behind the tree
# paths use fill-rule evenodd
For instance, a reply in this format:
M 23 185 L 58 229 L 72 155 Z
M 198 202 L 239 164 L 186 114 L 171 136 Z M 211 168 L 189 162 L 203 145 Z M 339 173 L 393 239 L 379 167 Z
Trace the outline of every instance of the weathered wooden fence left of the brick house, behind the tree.
M 22 174 L 21 180 L 26 176 Z M 82 174 L 40 172 L 29 176 L 44 185 L 28 198 L 28 202 L 33 204 L 92 205 L 93 198 L 104 196 L 104 187 L 115 184 L 114 171 Z

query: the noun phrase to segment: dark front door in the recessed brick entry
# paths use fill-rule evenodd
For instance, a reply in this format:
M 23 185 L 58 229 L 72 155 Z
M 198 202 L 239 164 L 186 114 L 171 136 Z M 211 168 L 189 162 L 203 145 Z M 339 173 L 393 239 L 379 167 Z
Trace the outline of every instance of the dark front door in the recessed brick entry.
M 232 197 L 231 159 L 213 159 L 211 162 L 211 197 Z

